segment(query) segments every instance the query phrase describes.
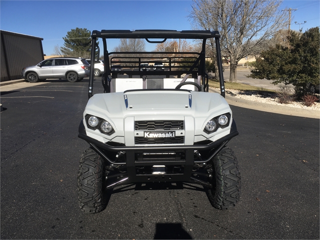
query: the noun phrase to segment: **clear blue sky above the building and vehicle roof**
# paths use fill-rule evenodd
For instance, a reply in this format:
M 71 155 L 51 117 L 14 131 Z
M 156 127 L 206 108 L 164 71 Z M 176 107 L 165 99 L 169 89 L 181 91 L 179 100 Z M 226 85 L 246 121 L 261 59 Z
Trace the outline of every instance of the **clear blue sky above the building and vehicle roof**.
M 101 29 L 191 29 L 191 0 L 0 0 L 0 29 L 42 37 L 43 52 L 63 46 L 67 31 Z M 292 11 L 291 29 L 319 26 L 319 0 L 284 0 Z M 303 23 L 304 24 L 295 24 Z M 108 41 L 113 49 L 117 40 Z M 154 46 L 147 50 L 154 49 Z

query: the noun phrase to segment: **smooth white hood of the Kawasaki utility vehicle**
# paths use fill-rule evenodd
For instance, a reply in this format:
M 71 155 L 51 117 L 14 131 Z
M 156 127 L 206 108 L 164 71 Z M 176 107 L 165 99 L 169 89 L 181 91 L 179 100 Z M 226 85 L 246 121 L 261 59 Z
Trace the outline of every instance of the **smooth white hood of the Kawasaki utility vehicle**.
M 94 102 L 94 103 L 93 103 Z M 85 112 L 98 115 L 125 117 L 128 115 L 177 114 L 208 116 L 228 112 L 229 105 L 218 93 L 149 90 L 94 94 L 88 101 Z

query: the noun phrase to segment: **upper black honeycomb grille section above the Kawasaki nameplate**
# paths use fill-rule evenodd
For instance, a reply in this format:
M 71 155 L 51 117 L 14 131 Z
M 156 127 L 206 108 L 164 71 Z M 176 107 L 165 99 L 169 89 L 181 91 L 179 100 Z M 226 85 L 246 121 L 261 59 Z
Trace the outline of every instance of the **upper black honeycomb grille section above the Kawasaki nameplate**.
M 135 121 L 135 130 L 183 130 L 183 120 Z

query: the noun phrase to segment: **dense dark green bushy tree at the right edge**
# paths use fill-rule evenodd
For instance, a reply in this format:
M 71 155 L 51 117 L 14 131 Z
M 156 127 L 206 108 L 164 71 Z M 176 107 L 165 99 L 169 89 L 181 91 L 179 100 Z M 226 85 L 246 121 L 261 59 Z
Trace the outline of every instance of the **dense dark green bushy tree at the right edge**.
M 262 51 L 248 77 L 273 80 L 273 84 L 292 84 L 298 91 L 306 83 L 319 84 L 319 27 L 300 34 L 291 31 L 290 47 L 276 45 Z

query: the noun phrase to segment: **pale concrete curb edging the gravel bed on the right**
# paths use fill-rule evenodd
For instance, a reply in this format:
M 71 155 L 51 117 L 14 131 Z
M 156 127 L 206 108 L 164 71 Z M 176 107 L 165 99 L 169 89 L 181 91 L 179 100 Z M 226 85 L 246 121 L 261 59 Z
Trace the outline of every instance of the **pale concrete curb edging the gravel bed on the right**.
M 211 87 L 209 87 L 209 91 L 220 93 L 219 91 Z M 230 105 L 234 105 L 234 106 L 250 108 L 250 109 L 259 110 L 259 111 L 273 112 L 278 114 L 292 115 L 292 116 L 320 118 L 320 111 L 317 111 L 317 110 L 250 101 L 250 100 L 230 96 L 228 94 L 225 94 L 225 99 Z

